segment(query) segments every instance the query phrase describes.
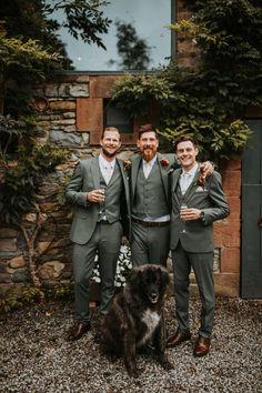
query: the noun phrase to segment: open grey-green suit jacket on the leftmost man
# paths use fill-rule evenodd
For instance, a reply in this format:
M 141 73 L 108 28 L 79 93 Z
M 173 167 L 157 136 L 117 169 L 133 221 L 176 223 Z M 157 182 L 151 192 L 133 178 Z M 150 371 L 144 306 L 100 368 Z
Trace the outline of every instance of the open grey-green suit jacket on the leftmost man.
M 129 181 L 122 160 L 118 160 L 124 187 L 124 211 L 130 216 Z M 100 171 L 98 157 L 82 160 L 74 170 L 72 179 L 66 189 L 66 199 L 75 206 L 71 226 L 71 240 L 78 244 L 85 244 L 98 222 L 99 205 L 87 200 L 88 192 L 100 189 Z

